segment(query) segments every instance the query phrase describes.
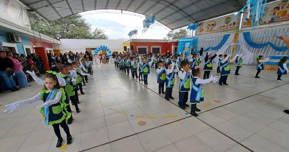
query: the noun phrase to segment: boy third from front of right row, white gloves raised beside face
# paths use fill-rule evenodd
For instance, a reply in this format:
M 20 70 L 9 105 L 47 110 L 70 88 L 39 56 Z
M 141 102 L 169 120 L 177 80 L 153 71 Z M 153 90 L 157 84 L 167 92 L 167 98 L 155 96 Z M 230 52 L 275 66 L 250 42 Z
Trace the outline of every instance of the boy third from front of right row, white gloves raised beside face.
M 176 65 L 176 69 L 174 70 L 174 66 Z M 175 72 L 179 72 L 178 62 L 169 62 L 167 64 L 168 69 L 165 71 L 165 100 L 169 101 L 169 99 L 175 99 L 172 97 L 172 88 L 175 83 Z

